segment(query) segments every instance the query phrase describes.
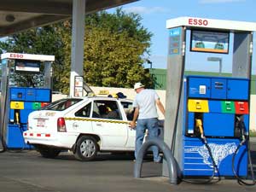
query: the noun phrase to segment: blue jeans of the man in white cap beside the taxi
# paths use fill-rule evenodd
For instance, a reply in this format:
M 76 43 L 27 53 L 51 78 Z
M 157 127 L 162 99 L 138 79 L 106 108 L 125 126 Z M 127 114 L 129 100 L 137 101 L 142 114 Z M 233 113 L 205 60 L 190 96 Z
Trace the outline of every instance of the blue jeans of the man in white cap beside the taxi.
M 135 159 L 137 159 L 137 154 L 142 148 L 143 145 L 143 138 L 146 129 L 148 129 L 148 139 L 158 137 L 158 119 L 151 118 L 151 119 L 137 119 L 137 127 L 136 127 L 136 143 L 135 143 Z M 160 161 L 159 156 L 159 149 L 156 146 L 152 146 L 152 151 L 154 155 L 154 161 Z

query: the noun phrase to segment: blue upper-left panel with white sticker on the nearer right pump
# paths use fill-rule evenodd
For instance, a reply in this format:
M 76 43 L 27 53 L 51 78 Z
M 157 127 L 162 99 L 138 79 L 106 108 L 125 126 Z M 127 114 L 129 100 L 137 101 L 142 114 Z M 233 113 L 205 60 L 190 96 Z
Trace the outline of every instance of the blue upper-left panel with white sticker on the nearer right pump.
M 211 96 L 211 79 L 189 77 L 189 97 L 209 98 Z

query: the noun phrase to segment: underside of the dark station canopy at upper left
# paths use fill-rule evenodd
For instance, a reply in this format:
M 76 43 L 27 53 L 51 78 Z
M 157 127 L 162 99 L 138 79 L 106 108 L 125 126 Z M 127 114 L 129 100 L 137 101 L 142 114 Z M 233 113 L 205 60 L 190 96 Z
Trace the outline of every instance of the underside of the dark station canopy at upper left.
M 85 14 L 137 0 L 86 0 Z M 0 38 L 72 17 L 73 0 L 1 0 Z

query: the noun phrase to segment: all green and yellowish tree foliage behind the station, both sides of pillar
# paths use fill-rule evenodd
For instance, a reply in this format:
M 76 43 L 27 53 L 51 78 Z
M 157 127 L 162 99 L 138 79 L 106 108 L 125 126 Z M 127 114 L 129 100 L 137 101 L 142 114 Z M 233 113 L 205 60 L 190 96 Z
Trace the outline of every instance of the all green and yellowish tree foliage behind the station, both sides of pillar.
M 137 14 L 122 9 L 85 17 L 84 80 L 95 86 L 132 87 L 141 81 L 152 85 L 144 70 L 143 55 L 149 54 L 152 34 Z M 65 93 L 69 88 L 71 65 L 71 20 L 39 27 L 10 36 L 0 48 L 6 51 L 55 55 L 54 87 Z

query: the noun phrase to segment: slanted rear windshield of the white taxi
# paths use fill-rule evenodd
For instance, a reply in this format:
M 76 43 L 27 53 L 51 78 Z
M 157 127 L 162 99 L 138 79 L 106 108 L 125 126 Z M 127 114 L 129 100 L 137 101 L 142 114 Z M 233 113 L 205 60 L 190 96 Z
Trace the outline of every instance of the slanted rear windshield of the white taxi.
M 74 104 L 82 101 L 83 99 L 79 98 L 67 98 L 67 99 L 61 99 L 55 102 L 50 103 L 49 105 L 45 106 L 44 108 L 41 108 L 42 110 L 53 110 L 53 111 L 63 111 Z

